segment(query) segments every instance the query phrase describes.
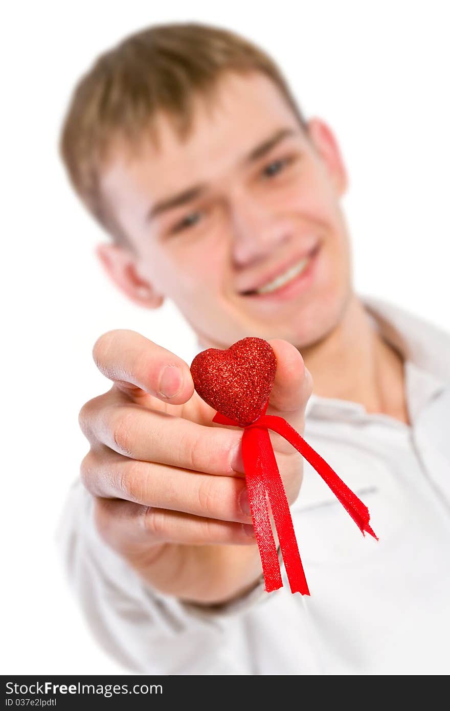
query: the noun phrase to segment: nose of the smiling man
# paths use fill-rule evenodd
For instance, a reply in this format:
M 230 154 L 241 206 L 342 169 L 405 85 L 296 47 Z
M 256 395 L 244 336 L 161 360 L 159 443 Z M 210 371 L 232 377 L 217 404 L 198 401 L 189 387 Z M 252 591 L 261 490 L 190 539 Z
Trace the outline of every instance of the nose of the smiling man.
M 232 256 L 237 266 L 245 266 L 271 254 L 289 240 L 289 221 L 273 213 L 262 201 L 240 199 L 232 206 Z

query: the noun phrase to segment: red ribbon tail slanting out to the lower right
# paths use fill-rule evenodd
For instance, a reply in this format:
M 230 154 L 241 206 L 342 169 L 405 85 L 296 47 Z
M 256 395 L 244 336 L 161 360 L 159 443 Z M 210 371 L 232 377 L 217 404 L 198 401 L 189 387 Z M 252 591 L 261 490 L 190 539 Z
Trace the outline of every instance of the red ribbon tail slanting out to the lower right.
M 294 427 L 291 427 L 285 419 L 277 417 L 277 415 L 264 415 L 264 417 L 261 417 L 258 424 L 264 427 L 269 427 L 269 429 L 273 429 L 274 432 L 281 434 L 281 436 L 284 437 L 284 439 L 286 439 L 292 447 L 295 447 L 295 449 L 299 451 L 307 461 L 309 461 L 309 464 L 316 469 L 323 481 L 328 484 L 331 491 L 333 491 L 336 498 L 338 498 L 338 501 L 341 502 L 342 506 L 353 518 L 363 535 L 365 535 L 365 533 L 369 533 L 373 536 L 373 538 L 378 540 L 377 535 L 375 535 L 373 529 L 369 525 L 370 513 L 368 507 L 360 501 L 358 496 L 356 496 L 350 488 L 348 488 L 348 486 L 342 481 L 341 477 L 336 474 L 336 471 L 331 469 L 331 466 L 327 464 L 325 459 L 323 459 L 315 449 L 310 447 L 310 445 L 305 442 L 303 437 L 296 432 Z

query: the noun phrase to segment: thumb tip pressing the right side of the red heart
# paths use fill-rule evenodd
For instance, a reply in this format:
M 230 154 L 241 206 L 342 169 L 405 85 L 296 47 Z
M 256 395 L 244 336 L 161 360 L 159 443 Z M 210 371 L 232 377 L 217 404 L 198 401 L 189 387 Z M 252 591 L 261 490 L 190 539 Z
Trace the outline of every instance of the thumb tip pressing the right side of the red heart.
M 306 402 L 313 390 L 311 373 L 291 343 L 280 338 L 274 338 L 269 343 L 277 356 L 277 372 L 267 414 L 284 417 L 295 429 L 303 429 Z

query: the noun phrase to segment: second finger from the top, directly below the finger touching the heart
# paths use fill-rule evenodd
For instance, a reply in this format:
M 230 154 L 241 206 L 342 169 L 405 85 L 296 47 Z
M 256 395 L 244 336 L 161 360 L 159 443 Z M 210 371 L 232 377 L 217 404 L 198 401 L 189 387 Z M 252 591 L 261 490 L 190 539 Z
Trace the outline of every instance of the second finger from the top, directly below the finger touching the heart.
M 241 430 L 208 427 L 131 402 L 87 402 L 80 426 L 92 447 L 105 444 L 130 459 L 169 464 L 205 474 L 243 472 Z

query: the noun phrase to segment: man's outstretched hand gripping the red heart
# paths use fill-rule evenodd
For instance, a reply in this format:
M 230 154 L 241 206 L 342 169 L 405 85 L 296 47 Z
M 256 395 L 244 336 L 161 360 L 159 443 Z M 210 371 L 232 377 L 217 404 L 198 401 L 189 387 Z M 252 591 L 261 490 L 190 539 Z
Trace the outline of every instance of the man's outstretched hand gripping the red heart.
M 294 346 L 269 343 L 278 365 L 267 414 L 303 432 L 311 375 Z M 242 429 L 212 423 L 215 410 L 194 391 L 188 365 L 139 333 L 109 331 L 93 355 L 113 381 L 80 411 L 91 446 L 81 476 L 102 538 L 151 586 L 180 599 L 220 603 L 250 589 L 262 568 Z M 270 437 L 293 503 L 301 456 Z

